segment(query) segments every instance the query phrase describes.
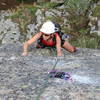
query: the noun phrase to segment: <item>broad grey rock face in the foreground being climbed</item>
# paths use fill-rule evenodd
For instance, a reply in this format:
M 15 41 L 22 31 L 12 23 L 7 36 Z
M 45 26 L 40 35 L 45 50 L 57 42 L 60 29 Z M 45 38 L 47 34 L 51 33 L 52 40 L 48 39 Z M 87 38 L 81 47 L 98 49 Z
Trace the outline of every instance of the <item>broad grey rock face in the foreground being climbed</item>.
M 23 57 L 22 44 L 0 46 L 0 100 L 100 100 L 100 51 L 63 52 L 57 58 L 55 51 L 33 48 Z M 73 81 L 48 78 L 56 62 Z

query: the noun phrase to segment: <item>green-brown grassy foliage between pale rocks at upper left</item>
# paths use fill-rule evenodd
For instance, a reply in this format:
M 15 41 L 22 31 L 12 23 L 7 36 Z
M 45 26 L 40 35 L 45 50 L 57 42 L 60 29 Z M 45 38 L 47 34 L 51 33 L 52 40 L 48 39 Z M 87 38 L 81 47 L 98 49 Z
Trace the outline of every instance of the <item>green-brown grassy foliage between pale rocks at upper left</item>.
M 26 33 L 26 26 L 31 22 L 31 20 L 35 19 L 36 10 L 37 7 L 33 5 L 21 5 L 17 10 L 12 10 L 10 18 L 19 23 L 22 33 Z

